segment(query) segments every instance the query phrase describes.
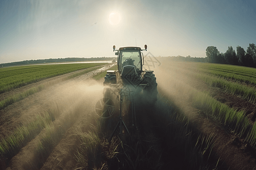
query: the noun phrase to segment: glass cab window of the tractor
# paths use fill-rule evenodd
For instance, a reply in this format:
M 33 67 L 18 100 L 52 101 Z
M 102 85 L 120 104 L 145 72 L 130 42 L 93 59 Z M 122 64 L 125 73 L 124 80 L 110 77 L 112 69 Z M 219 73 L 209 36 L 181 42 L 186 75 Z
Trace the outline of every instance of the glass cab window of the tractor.
M 120 66 L 119 70 L 121 71 L 122 67 L 125 65 L 133 65 L 137 70 L 142 70 L 142 61 L 141 61 L 141 52 L 138 50 L 123 50 L 120 52 Z

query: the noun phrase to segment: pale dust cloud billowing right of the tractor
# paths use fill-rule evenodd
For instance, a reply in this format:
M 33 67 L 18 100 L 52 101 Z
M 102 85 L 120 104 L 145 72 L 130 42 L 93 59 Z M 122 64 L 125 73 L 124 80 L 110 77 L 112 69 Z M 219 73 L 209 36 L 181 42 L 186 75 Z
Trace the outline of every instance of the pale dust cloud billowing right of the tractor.
M 193 80 L 186 75 L 182 62 L 162 62 L 162 65 L 154 69 L 156 82 L 158 83 L 158 91 L 160 94 L 171 99 L 189 118 L 193 118 L 191 114 L 193 109 L 189 105 L 191 91 L 196 90 L 191 86 Z

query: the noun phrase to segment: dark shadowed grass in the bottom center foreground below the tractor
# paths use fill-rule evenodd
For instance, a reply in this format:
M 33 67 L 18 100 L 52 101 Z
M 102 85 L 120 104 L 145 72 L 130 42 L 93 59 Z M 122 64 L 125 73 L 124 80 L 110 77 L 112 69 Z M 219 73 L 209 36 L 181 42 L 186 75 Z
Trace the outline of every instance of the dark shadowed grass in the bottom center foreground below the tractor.
M 213 169 L 219 167 L 209 160 L 212 136 L 198 133 L 183 114 L 160 96 L 156 108 L 137 108 L 139 135 L 128 125 L 130 135 L 106 140 L 108 129 L 98 124 L 88 133 L 79 131 L 81 143 L 77 162 L 91 169 Z M 157 115 L 155 114 L 157 111 Z M 125 119 L 125 118 L 124 118 Z M 110 130 L 112 131 L 112 130 Z

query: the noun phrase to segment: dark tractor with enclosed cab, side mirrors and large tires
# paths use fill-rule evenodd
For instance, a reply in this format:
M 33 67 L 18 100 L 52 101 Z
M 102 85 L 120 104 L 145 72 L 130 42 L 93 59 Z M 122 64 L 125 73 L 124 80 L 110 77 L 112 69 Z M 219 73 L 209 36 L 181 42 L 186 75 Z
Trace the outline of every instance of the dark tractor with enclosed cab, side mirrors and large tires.
M 110 90 L 110 86 L 122 85 L 123 96 L 130 96 L 133 92 L 134 96 L 138 95 L 147 104 L 155 104 L 157 100 L 157 83 L 154 71 L 142 70 L 144 65 L 144 56 L 142 51 L 147 50 L 147 45 L 144 45 L 145 49 L 141 49 L 137 46 L 126 46 L 115 50 L 113 46 L 113 52 L 117 55 L 118 70 L 108 70 L 104 80 L 104 98 L 113 98 L 113 90 Z M 115 93 L 114 93 L 115 94 Z M 117 95 L 115 95 L 117 96 Z M 114 97 L 115 97 L 114 96 Z M 117 97 L 118 98 L 118 97 Z M 118 100 L 118 99 L 117 99 Z

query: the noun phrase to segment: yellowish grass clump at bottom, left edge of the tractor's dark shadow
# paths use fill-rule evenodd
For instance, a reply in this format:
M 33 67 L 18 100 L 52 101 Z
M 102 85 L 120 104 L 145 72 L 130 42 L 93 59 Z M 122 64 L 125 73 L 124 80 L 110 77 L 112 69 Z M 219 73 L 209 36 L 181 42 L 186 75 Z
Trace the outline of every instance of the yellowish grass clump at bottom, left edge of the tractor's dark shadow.
M 118 146 L 121 141 L 117 138 L 113 139 L 112 143 L 108 143 L 102 138 L 104 131 L 101 128 L 101 121 L 98 117 L 91 117 L 90 130 L 77 130 L 80 138 L 80 146 L 77 149 L 76 160 L 81 167 L 90 167 L 92 169 L 108 169 L 107 164 L 103 161 L 113 159 L 118 154 Z M 99 168 L 100 167 L 100 168 Z

